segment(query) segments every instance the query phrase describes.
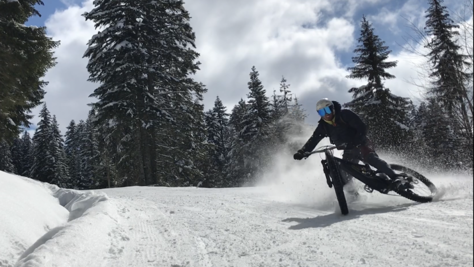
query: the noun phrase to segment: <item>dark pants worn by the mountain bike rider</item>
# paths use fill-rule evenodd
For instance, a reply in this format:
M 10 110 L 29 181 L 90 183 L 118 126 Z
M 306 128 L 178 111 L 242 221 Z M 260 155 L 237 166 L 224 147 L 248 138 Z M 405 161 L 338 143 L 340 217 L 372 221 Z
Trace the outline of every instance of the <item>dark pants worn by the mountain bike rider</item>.
M 344 150 L 342 158 L 352 163 L 359 163 L 359 161 L 362 161 L 374 167 L 378 171 L 387 174 L 391 179 L 395 179 L 396 173 L 393 172 L 387 162 L 379 158 L 379 155 L 375 152 L 374 144 L 370 139 L 367 139 L 367 142 L 363 146 L 359 146 L 350 150 Z M 342 173 L 342 178 L 346 181 L 346 183 L 352 180 L 353 177 L 351 175 L 346 172 Z

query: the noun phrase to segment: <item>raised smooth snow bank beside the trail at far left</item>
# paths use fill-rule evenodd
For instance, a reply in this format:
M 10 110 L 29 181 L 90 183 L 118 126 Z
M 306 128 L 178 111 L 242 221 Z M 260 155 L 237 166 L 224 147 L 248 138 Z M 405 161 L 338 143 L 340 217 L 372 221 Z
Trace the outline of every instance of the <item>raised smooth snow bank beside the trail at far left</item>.
M 0 172 L 0 266 L 96 266 L 117 234 L 102 192 L 75 191 Z M 84 255 L 78 264 L 75 255 Z

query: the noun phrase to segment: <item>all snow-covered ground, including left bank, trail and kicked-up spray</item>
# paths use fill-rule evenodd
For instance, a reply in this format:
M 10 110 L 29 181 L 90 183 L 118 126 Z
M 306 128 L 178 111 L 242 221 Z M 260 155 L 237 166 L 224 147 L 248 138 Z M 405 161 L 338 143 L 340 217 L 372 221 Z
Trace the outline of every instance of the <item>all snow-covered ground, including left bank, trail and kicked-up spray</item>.
M 291 164 L 291 165 L 289 165 Z M 473 178 L 337 210 L 319 158 L 258 187 L 74 191 L 0 172 L 0 267 L 472 267 Z M 300 170 L 300 171 L 298 171 Z

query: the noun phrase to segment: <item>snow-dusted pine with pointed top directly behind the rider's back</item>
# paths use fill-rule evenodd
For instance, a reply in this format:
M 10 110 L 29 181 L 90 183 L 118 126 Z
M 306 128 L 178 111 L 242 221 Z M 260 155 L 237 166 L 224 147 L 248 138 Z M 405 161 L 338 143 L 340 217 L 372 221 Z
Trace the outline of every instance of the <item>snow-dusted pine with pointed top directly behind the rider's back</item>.
M 374 34 L 372 24 L 365 16 L 362 19 L 361 43 L 352 57 L 355 67 L 347 68 L 351 74 L 348 78 L 368 79 L 366 86 L 354 87 L 353 100 L 344 106 L 359 114 L 368 126 L 368 136 L 374 144 L 385 149 L 401 149 L 410 134 L 406 124 L 409 122 L 408 112 L 411 106 L 409 98 L 403 98 L 390 93 L 384 88 L 383 79 L 393 79 L 395 76 L 385 71 L 396 67 L 396 61 L 387 62 L 391 50 L 384 47 L 385 43 Z

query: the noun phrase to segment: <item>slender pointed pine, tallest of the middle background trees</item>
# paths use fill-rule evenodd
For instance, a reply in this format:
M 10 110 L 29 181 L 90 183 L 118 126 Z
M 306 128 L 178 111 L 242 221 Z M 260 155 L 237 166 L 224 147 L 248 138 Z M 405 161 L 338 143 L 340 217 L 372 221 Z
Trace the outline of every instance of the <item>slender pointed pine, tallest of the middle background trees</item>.
M 249 173 L 249 182 L 252 182 L 259 170 L 263 170 L 268 157 L 269 126 L 271 123 L 270 102 L 265 95 L 266 90 L 258 79 L 259 73 L 255 66 L 250 72 L 248 88 L 248 109 L 244 115 L 244 127 L 240 135 L 244 143 L 243 153 L 246 169 Z

